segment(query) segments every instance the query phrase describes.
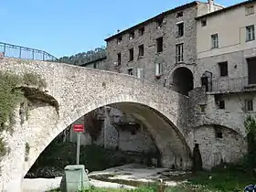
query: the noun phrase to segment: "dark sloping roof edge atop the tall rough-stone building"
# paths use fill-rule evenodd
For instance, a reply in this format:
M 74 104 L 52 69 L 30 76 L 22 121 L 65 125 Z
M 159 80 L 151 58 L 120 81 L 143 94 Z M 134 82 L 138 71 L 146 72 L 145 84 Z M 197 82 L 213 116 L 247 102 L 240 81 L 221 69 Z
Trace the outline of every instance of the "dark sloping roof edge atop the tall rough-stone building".
M 152 18 L 149 18 L 149 19 L 145 20 L 144 22 L 142 22 L 142 23 L 140 23 L 140 24 L 137 24 L 137 25 L 135 25 L 135 26 L 133 26 L 133 27 L 127 28 L 127 29 L 123 30 L 122 32 L 120 32 L 120 33 L 118 33 L 118 34 L 113 35 L 112 37 L 108 37 L 108 38 L 105 39 L 105 41 L 110 41 L 110 40 L 112 40 L 112 39 L 115 38 L 115 37 L 120 37 L 120 36 L 122 36 L 123 34 L 127 33 L 128 31 L 131 31 L 131 30 L 133 30 L 133 29 L 135 29 L 135 28 L 143 27 L 143 26 L 145 26 L 146 24 L 151 23 L 151 22 L 153 22 L 153 21 L 155 21 L 155 20 L 157 20 L 157 19 L 159 19 L 159 18 L 161 18 L 161 17 L 164 17 L 164 16 L 170 15 L 170 14 L 172 14 L 172 13 L 175 13 L 175 12 L 178 12 L 178 11 L 181 11 L 181 10 L 184 10 L 184 9 L 186 9 L 186 8 L 195 6 L 195 5 L 197 5 L 197 4 L 198 4 L 198 1 L 193 1 L 193 2 L 188 3 L 188 4 L 185 4 L 185 5 L 177 6 L 176 8 L 170 9 L 170 10 L 168 10 L 168 11 L 163 12 L 162 14 L 159 14 L 159 15 L 157 15 L 157 16 L 154 16 L 154 17 L 152 17 Z

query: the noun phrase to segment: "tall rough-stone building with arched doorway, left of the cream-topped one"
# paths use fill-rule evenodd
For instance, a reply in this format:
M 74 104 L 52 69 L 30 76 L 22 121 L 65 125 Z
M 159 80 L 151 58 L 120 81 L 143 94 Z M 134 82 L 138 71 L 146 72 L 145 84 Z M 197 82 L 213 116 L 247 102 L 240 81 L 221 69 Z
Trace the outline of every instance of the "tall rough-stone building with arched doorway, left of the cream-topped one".
M 220 8 L 213 1 L 195 1 L 108 37 L 106 64 L 144 80 L 176 85 L 176 91 L 188 94 L 194 88 L 191 69 L 197 61 L 195 17 Z

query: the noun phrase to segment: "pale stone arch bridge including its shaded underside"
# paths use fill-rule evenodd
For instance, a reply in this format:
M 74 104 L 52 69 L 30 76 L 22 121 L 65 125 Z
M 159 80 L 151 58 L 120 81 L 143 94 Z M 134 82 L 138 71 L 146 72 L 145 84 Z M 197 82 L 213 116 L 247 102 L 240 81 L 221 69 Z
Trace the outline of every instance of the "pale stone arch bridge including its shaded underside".
M 21 185 L 31 165 L 59 133 L 82 115 L 108 104 L 117 104 L 147 125 L 163 166 L 191 167 L 186 96 L 128 75 L 54 62 L 0 59 L 0 69 L 39 74 L 47 81 L 47 94 L 59 103 L 59 112 L 38 105 L 29 112 L 26 123 L 16 124 L 12 135 L 3 133 L 10 153 L 0 163 L 0 187 Z M 27 161 L 26 144 L 30 146 Z

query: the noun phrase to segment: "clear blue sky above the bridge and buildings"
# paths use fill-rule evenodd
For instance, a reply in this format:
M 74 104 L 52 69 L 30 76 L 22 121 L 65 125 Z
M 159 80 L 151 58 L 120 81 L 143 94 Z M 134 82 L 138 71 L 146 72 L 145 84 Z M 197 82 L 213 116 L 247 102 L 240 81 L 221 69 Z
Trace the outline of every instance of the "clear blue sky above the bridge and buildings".
M 0 42 L 70 56 L 105 46 L 104 39 L 117 29 L 191 1 L 0 0 Z M 242 1 L 215 0 L 225 6 Z

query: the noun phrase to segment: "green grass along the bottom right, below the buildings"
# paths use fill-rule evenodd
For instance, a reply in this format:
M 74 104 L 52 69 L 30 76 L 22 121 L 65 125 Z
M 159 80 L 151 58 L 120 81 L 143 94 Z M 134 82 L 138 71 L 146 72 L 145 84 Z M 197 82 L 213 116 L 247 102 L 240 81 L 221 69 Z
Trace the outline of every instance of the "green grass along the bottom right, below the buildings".
M 155 183 L 131 190 L 91 187 L 84 192 L 240 192 L 244 187 L 256 183 L 255 176 L 234 168 L 215 169 L 212 172 L 201 171 L 179 180 L 184 182 L 176 187 L 165 187 Z

